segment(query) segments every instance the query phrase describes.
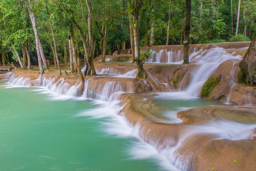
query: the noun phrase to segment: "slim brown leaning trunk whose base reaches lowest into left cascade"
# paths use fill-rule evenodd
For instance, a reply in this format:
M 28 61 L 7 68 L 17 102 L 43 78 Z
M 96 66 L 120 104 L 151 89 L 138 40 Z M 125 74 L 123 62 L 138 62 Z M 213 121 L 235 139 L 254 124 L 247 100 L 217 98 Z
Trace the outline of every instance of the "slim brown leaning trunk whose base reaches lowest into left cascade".
M 73 56 L 76 59 L 76 67 L 78 68 L 78 73 L 82 82 L 82 91 L 84 90 L 84 77 L 81 71 L 81 66 L 80 66 L 80 59 L 79 59 L 79 55 L 76 51 L 76 45 L 75 45 L 75 35 L 74 35 L 74 29 L 73 29 L 73 25 L 72 22 L 70 23 L 70 39 L 71 39 L 71 46 L 72 46 L 72 51 L 73 51 Z

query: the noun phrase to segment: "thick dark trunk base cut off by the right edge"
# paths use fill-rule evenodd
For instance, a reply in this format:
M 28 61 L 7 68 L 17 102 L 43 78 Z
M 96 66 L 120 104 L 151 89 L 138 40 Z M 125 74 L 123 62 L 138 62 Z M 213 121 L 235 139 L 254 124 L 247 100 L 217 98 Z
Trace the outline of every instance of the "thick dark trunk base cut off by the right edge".
M 248 83 L 253 84 L 250 74 L 256 71 L 256 32 L 254 33 L 253 40 L 251 41 L 251 44 L 243 56 L 239 66 L 242 68 L 245 78 L 249 80 Z M 256 82 L 255 79 L 256 78 L 254 76 L 254 82 Z

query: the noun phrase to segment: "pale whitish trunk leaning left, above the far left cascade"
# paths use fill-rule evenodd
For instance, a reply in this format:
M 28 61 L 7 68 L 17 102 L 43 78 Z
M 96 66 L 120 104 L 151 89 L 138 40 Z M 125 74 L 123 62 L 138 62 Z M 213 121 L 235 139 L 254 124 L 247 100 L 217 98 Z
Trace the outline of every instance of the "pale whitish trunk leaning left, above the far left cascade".
M 32 23 L 32 26 L 34 29 L 34 34 L 35 34 L 35 46 L 36 46 L 36 54 L 38 56 L 38 66 L 39 66 L 40 73 L 42 74 L 43 67 L 42 67 L 42 58 L 41 58 L 40 49 L 39 49 L 39 36 L 38 36 L 37 29 L 36 29 L 35 15 L 34 15 L 34 13 L 31 13 L 31 11 L 30 11 L 30 19 L 31 19 L 31 23 Z

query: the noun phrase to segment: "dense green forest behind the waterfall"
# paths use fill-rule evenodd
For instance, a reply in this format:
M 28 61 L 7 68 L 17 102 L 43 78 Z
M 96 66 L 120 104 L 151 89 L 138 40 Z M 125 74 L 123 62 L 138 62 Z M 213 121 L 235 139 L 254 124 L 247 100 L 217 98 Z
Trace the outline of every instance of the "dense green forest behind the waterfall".
M 92 9 L 92 38 L 88 26 L 87 3 Z M 31 23 L 34 14 L 36 28 L 44 55 L 60 59 L 70 65 L 68 53 L 70 24 L 74 21 L 84 32 L 86 41 L 93 40 L 92 55 L 107 54 L 131 48 L 129 0 L 2 0 L 0 2 L 1 64 L 18 63 L 17 56 L 26 67 L 26 56 L 31 64 L 38 65 L 36 40 Z M 184 40 L 185 0 L 144 0 L 139 27 L 140 46 L 182 44 Z M 250 41 L 256 31 L 255 0 L 194 0 L 191 1 L 191 44 Z M 52 31 L 55 36 L 52 39 Z M 75 26 L 74 26 L 75 27 Z M 104 43 L 106 36 L 107 43 Z M 74 41 L 80 58 L 85 56 L 83 38 L 74 29 Z M 89 41 L 90 41 L 89 40 Z M 90 42 L 88 43 L 90 45 Z M 57 59 L 58 59 L 57 58 Z M 53 60 L 56 64 L 56 60 Z

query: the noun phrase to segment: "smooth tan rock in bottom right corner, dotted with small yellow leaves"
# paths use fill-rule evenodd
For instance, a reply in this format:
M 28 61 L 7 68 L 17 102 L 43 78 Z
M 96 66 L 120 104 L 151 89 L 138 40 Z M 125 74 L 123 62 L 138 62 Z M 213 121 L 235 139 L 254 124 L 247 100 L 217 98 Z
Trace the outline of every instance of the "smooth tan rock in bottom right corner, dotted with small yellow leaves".
M 194 170 L 255 170 L 255 151 L 255 137 L 253 140 L 214 140 L 199 149 Z

